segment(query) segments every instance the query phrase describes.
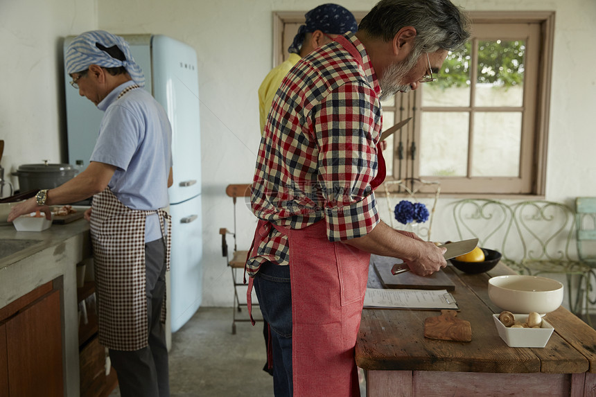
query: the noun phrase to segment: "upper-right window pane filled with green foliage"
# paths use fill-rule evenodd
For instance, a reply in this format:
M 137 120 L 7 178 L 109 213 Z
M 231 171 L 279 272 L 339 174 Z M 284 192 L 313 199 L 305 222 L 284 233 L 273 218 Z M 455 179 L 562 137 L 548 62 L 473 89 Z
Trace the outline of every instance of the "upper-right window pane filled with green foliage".
M 476 106 L 523 105 L 525 42 L 478 42 Z

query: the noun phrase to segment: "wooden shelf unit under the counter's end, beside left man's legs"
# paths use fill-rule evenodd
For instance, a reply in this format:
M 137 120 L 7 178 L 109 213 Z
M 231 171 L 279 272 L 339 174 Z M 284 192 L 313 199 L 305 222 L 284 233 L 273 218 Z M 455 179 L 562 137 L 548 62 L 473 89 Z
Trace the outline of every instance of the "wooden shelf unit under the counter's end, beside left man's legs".
M 105 375 L 105 348 L 99 344 L 97 336 L 97 312 L 94 304 L 95 286 L 87 282 L 77 290 L 79 306 L 85 306 L 85 314 L 79 323 L 79 364 L 80 396 L 109 396 L 118 382 L 116 371 L 112 368 Z

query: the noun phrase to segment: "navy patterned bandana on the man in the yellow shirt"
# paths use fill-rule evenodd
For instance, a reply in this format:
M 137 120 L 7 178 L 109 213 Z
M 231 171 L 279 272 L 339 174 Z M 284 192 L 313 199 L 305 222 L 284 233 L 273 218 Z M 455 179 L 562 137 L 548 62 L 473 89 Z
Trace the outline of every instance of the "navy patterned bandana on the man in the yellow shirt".
M 356 32 L 358 30 L 356 18 L 354 18 L 351 12 L 342 6 L 338 6 L 338 4 L 323 4 L 306 12 L 305 17 L 306 24 L 298 28 L 294 42 L 288 48 L 288 52 L 290 53 L 300 53 L 306 33 L 321 30 L 323 33 L 330 33 L 331 35 L 343 35 L 347 32 Z

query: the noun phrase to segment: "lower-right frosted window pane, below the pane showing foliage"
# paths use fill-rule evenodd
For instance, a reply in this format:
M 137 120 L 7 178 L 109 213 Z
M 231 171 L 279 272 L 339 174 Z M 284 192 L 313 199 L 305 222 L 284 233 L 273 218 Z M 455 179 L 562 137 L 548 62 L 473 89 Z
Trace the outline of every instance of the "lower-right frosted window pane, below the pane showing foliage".
M 474 114 L 473 177 L 517 177 L 521 112 Z

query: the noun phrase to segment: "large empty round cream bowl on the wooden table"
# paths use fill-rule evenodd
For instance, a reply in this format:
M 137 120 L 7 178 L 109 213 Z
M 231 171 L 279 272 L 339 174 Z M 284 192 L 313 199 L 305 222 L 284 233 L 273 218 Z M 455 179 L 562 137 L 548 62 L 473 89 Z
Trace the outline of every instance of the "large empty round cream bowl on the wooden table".
M 512 313 L 545 314 L 561 306 L 563 284 L 538 276 L 509 275 L 489 279 L 489 298 Z

